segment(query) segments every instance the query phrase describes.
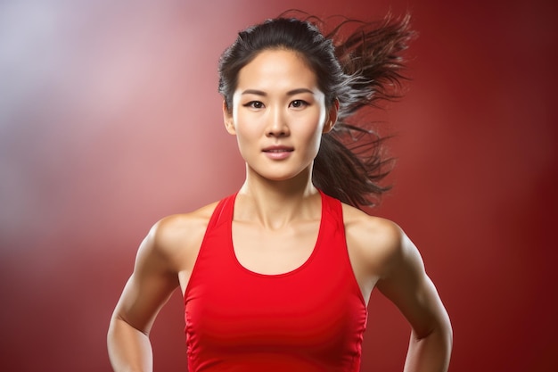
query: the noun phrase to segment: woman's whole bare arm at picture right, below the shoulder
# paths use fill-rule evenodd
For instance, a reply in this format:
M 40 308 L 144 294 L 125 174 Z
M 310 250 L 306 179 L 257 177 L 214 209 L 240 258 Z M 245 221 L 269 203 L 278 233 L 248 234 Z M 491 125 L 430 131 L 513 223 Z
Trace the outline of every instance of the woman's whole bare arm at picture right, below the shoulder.
M 388 269 L 377 287 L 412 327 L 404 370 L 445 372 L 453 343 L 447 311 L 414 244 L 400 228 L 393 226 L 391 230 Z

